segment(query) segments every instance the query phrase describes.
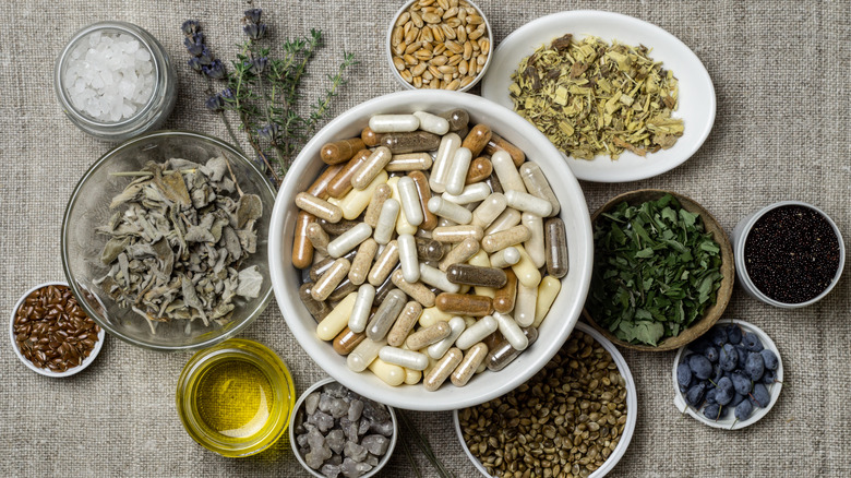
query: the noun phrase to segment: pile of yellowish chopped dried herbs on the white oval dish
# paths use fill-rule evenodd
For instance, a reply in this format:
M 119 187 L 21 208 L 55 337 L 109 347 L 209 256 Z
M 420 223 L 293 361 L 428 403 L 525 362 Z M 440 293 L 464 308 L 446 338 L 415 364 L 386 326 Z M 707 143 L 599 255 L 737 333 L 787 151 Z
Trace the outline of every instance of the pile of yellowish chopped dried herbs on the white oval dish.
M 674 145 L 679 85 L 645 46 L 567 34 L 520 61 L 508 91 L 514 109 L 575 158 L 645 156 Z

